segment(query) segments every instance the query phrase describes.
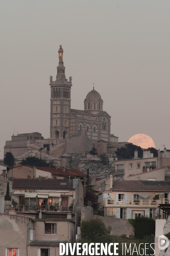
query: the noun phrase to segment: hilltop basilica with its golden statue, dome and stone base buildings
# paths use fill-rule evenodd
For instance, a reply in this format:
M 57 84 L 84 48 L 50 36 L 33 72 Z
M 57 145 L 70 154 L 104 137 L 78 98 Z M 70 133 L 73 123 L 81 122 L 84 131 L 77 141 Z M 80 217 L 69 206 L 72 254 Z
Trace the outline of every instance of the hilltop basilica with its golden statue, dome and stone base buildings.
M 41 157 L 56 166 L 66 166 L 64 158 L 73 154 L 86 157 L 94 147 L 98 154 L 114 157 L 118 137 L 111 134 L 111 116 L 103 110 L 101 95 L 94 89 L 84 100 L 84 110 L 71 108 L 72 77 L 65 77 L 63 49 L 59 47 L 59 65 L 54 80 L 50 76 L 50 135 L 44 139 L 38 132 L 11 136 L 6 141 L 4 155 L 11 152 L 19 165 L 28 156 Z M 54 80 L 54 81 L 53 81 Z

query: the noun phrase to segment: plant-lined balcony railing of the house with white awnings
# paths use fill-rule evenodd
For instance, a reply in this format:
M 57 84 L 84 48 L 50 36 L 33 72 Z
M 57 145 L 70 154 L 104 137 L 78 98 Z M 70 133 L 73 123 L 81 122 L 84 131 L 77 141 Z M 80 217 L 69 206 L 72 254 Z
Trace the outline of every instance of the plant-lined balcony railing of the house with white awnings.
M 47 206 L 38 206 L 38 205 L 16 205 L 15 210 L 17 212 L 36 212 L 36 211 L 45 211 L 45 212 L 70 212 L 73 211 L 72 206 L 54 206 L 54 205 L 47 205 Z

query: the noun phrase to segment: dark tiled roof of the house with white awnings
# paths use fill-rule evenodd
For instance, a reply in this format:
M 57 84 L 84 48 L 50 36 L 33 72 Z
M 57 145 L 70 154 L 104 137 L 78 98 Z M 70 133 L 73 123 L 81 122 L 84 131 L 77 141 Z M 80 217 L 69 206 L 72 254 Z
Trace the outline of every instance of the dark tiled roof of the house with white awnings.
M 13 189 L 74 189 L 68 179 L 13 179 Z

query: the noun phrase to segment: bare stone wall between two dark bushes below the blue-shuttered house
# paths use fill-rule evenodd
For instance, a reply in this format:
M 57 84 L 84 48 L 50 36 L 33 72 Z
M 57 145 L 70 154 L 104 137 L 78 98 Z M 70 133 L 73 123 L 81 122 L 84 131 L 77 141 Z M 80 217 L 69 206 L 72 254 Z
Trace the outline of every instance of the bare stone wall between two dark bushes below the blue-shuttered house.
M 121 236 L 126 234 L 127 236 L 134 235 L 133 227 L 127 219 L 119 218 L 107 218 L 99 216 L 105 223 L 105 227 L 108 227 L 113 236 Z

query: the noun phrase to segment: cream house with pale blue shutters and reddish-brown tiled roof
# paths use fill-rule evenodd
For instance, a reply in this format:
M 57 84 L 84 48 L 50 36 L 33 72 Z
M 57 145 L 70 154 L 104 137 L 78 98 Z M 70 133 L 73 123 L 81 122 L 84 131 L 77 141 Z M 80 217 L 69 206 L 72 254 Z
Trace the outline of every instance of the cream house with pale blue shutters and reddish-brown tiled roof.
M 101 186 L 99 203 L 105 216 L 164 218 L 160 204 L 170 204 L 170 182 L 153 180 L 113 180 L 110 175 Z

